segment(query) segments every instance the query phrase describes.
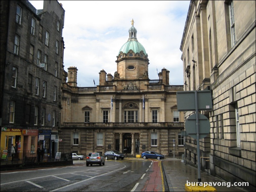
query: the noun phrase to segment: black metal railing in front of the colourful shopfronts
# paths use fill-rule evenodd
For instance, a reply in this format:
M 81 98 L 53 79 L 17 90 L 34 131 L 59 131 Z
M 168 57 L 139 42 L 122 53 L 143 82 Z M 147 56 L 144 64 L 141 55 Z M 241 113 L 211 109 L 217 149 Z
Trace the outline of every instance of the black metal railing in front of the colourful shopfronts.
M 36 151 L 18 150 L 11 154 L 11 150 L 1 150 L 1 165 L 65 160 L 72 160 L 72 152 L 37 154 Z

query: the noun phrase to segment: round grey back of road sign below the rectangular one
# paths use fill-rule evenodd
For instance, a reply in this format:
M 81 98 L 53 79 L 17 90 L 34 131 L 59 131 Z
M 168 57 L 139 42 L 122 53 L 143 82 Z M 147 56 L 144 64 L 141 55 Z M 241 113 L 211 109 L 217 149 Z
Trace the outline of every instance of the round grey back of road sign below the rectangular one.
M 210 132 L 210 121 L 203 114 L 199 115 L 199 138 L 206 137 Z M 185 122 L 187 134 L 196 139 L 196 114 L 190 115 Z

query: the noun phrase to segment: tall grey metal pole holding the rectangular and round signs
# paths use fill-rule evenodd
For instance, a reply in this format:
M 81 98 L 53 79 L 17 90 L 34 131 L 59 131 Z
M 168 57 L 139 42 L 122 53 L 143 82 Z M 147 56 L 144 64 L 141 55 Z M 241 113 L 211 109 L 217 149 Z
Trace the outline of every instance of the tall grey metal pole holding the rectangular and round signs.
M 199 114 L 198 114 L 197 91 L 195 91 L 195 114 L 196 114 L 197 174 L 198 174 L 198 182 L 201 182 L 200 143 L 199 143 Z

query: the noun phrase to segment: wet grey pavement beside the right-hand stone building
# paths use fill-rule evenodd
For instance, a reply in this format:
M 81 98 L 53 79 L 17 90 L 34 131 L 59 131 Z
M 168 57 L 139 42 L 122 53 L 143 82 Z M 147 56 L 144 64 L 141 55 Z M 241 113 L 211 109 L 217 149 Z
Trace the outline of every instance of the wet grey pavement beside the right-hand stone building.
M 197 182 L 198 173 L 197 168 L 185 165 L 184 162 L 181 162 L 181 159 L 165 159 L 162 161 L 165 176 L 169 186 L 169 191 L 185 191 L 185 184 L 188 182 Z M 207 175 L 205 172 L 201 172 L 201 181 L 202 182 L 225 182 L 222 179 L 214 177 L 212 175 Z M 227 183 L 227 182 L 226 182 Z M 230 183 L 231 185 L 233 183 Z M 236 186 L 213 186 L 217 191 L 247 191 L 241 187 Z

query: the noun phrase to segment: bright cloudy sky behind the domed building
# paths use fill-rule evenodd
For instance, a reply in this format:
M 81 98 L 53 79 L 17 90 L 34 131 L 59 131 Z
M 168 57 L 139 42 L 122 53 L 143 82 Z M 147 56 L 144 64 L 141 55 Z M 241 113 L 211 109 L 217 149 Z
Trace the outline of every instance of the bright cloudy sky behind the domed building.
M 43 9 L 43 1 L 29 1 Z M 104 69 L 114 76 L 117 55 L 128 40 L 131 20 L 137 39 L 145 48 L 148 75 L 170 71 L 170 85 L 183 85 L 180 43 L 190 1 L 62 1 L 65 10 L 63 37 L 64 70 L 78 69 L 77 85 L 99 85 Z

